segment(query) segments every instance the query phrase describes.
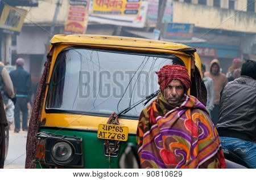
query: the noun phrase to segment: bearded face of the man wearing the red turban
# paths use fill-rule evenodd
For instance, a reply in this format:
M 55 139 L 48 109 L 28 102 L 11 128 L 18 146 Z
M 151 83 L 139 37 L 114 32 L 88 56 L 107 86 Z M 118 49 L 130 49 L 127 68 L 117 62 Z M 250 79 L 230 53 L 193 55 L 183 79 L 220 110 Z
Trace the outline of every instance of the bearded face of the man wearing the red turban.
M 164 89 L 163 96 L 170 104 L 177 104 L 184 96 L 185 88 L 180 80 L 174 79 Z

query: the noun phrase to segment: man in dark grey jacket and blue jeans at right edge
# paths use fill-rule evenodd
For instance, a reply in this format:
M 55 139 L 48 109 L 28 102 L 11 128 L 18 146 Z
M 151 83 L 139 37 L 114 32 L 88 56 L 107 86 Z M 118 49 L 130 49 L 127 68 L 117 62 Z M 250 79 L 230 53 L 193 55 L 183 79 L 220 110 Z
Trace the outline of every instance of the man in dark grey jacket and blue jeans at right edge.
M 256 61 L 242 65 L 241 78 L 224 88 L 217 131 L 224 149 L 256 168 Z

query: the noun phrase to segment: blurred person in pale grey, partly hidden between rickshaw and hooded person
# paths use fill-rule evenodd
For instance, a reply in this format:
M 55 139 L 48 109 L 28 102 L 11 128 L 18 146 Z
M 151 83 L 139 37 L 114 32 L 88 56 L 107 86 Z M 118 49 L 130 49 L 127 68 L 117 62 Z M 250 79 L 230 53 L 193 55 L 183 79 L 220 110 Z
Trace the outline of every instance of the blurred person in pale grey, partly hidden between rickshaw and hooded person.
M 204 76 L 205 73 L 205 65 L 202 64 L 202 73 Z M 203 78 L 205 87 L 207 88 L 207 110 L 212 117 L 212 110 L 214 108 L 213 100 L 214 100 L 214 87 L 213 87 L 213 80 L 212 78 L 204 76 Z

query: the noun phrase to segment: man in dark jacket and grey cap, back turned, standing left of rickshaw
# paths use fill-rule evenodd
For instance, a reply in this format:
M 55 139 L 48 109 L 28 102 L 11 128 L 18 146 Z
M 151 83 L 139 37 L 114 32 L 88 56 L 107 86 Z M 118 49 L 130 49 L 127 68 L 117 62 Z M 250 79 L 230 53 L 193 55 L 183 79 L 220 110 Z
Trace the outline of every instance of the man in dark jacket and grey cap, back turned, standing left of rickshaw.
M 16 70 L 10 72 L 11 80 L 13 81 L 16 90 L 16 104 L 14 109 L 15 130 L 20 130 L 20 110 L 22 112 L 22 129 L 27 131 L 28 108 L 27 103 L 30 101 L 31 94 L 31 75 L 23 69 L 24 59 L 16 60 Z

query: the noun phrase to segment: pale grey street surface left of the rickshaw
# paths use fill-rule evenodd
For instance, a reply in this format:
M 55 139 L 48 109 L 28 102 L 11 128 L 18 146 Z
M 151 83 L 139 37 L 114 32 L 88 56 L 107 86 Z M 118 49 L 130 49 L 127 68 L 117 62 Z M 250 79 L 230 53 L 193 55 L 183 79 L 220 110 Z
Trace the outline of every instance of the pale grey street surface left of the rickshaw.
M 13 123 L 14 124 L 14 123 Z M 14 133 L 14 125 L 9 131 L 9 151 L 4 168 L 25 168 L 27 132 Z

